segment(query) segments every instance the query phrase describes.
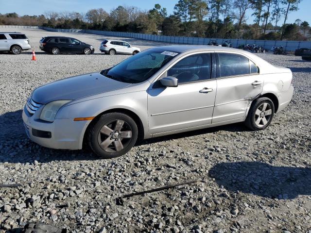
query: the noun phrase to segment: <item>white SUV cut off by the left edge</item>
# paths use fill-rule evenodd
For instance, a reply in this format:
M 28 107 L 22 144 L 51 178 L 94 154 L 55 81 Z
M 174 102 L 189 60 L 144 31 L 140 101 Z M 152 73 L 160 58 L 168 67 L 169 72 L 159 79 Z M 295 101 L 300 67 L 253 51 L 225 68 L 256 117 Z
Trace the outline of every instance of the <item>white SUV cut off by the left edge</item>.
M 30 50 L 27 36 L 23 33 L 0 33 L 0 51 L 11 51 L 20 54 L 22 50 Z

